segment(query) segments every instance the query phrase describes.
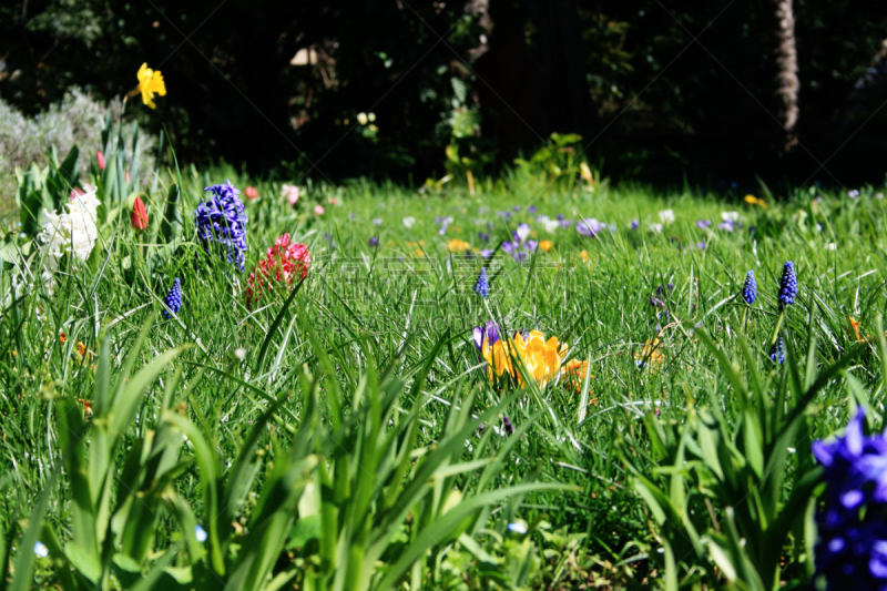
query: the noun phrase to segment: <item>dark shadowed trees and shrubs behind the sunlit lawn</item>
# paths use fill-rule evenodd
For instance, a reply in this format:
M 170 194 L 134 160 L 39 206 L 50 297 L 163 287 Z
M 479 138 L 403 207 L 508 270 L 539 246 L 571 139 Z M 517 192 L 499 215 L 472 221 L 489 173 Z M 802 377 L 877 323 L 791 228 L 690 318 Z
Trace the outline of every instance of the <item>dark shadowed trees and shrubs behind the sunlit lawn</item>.
M 26 0 L 0 7 L 0 98 L 111 99 L 142 62 L 180 159 L 254 174 L 485 173 L 580 133 L 615 179 L 884 181 L 875 0 Z

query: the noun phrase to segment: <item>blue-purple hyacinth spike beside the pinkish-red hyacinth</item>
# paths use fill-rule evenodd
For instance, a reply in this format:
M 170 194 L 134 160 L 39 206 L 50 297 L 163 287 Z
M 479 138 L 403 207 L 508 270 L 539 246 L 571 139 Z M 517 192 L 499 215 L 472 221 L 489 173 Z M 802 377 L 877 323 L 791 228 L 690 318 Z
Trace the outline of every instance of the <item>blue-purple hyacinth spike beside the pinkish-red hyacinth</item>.
M 226 181 L 224 185 L 207 186 L 212 191 L 210 201 L 201 202 L 194 212 L 194 224 L 197 226 L 197 238 L 206 252 L 211 243 L 225 254 L 228 263 L 234 263 L 241 273 L 246 263 L 246 215 L 243 202 L 237 196 L 239 191 Z

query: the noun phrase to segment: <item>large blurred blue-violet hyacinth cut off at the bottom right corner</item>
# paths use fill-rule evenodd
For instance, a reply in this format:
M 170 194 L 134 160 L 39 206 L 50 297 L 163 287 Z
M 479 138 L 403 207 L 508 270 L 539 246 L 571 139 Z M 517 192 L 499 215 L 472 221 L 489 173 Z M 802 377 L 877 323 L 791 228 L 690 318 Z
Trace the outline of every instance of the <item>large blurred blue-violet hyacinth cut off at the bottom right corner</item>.
M 887 589 L 887 438 L 863 432 L 860 408 L 843 437 L 813 444 L 824 467 L 816 575 L 826 588 Z

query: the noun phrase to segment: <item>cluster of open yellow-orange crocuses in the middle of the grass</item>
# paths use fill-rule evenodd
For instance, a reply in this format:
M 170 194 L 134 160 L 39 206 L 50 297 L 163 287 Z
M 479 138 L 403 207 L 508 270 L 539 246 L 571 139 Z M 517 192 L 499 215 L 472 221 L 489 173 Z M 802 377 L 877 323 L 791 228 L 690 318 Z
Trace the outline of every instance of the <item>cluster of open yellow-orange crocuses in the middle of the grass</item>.
M 518 368 L 518 363 L 521 363 L 539 387 L 544 388 L 562 373 L 569 373 L 571 376 L 581 375 L 584 378 L 588 361 L 572 360 L 565 366 L 562 365 L 569 349 L 567 343 L 560 343 L 558 337 L 546 339 L 543 333 L 530 330 L 526 337 L 517 333 L 514 338 L 502 338 L 492 345 L 489 338 L 485 338 L 481 355 L 487 361 L 487 377 L 491 383 L 508 374 L 523 386 L 523 376 Z

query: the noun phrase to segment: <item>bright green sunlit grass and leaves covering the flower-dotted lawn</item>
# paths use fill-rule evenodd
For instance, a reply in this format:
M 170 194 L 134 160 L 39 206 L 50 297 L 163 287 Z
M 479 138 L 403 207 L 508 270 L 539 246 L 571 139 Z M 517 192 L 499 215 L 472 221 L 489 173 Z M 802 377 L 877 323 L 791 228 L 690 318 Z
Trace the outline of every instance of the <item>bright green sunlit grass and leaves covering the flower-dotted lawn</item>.
M 748 408 L 806 409 L 781 460 L 774 511 L 802 486 L 809 444 L 840 430 L 853 408 L 874 410 L 870 426 L 883 428 L 887 205 L 874 191 L 856 200 L 803 191 L 763 208 L 537 177 L 481 184 L 473 197 L 358 181 L 310 186 L 293 208 L 278 186 L 256 183 L 241 275 L 193 237 L 201 190 L 225 177 L 249 184 L 225 170 L 166 174 L 150 195 L 149 231 L 135 235 L 124 212 L 85 265 L 58 274 L 54 294 L 29 275 L 39 276 L 37 248 L 8 234 L 7 253 L 33 258 L 24 278 L 10 264 L 0 275 L 0 557 L 14 565 L 6 585 L 718 587 L 753 579 L 737 567 L 743 551 L 718 560 L 675 523 L 720 540 L 714 529 L 726 532 L 726 516 L 769 481 L 758 470 L 728 499 L 692 476 L 693 461 L 674 461 L 695 454 L 680 441 L 715 437 L 705 435 L 708 412 L 723 417 L 733 465 L 754 467 Z M 165 241 L 160 212 L 174 183 L 181 235 Z M 665 208 L 675 222 L 648 231 Z M 717 230 L 723 211 L 738 212 L 742 227 Z M 574 225 L 549 234 L 539 214 L 611 226 L 595 238 Z M 442 216 L 452 221 L 441 235 Z M 700 228 L 700 218 L 715 223 Z M 523 264 L 498 248 L 487 264 L 491 295 L 479 298 L 480 258 L 449 253 L 448 242 L 497 248 L 521 222 L 553 247 Z M 290 297 L 249 309 L 246 275 L 285 232 L 309 246 L 310 273 Z M 799 295 L 782 323 L 779 366 L 767 354 L 786 261 Z M 738 297 L 748 269 L 759 285 L 752 306 Z M 166 319 L 174 277 L 184 304 Z M 853 359 L 849 317 L 863 337 Z M 490 319 L 507 333 L 558 336 L 592 377 L 495 389 L 471 335 Z M 797 388 L 795 369 L 812 376 Z M 663 519 L 660 485 L 675 503 Z M 809 578 L 810 514 L 779 548 L 777 584 Z M 738 527 L 750 537 L 754 526 Z M 35 540 L 47 558 L 33 553 Z

